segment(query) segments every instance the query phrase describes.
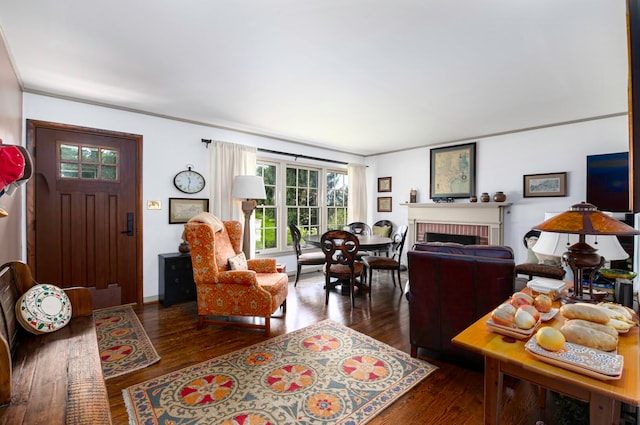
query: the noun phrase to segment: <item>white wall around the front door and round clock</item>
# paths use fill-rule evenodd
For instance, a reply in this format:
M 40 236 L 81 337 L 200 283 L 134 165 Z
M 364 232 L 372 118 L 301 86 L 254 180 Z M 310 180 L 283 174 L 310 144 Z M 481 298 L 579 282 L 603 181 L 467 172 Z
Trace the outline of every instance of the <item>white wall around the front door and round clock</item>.
M 185 197 L 173 186 L 174 175 L 185 169 L 186 164 L 193 164 L 193 169 L 205 176 L 209 174 L 208 151 L 201 139 L 223 140 L 344 162 L 364 162 L 364 158 L 357 155 L 30 93 L 24 95 L 24 118 L 143 136 L 145 301 L 151 301 L 158 295 L 158 254 L 177 252 L 180 243 L 183 226 L 168 224 L 168 198 Z M 210 180 L 207 182 L 210 187 Z M 206 190 L 193 197 L 206 197 Z M 147 210 L 147 200 L 162 201 L 162 210 Z M 278 261 L 285 262 L 287 270 L 295 270 L 295 256 L 288 255 Z

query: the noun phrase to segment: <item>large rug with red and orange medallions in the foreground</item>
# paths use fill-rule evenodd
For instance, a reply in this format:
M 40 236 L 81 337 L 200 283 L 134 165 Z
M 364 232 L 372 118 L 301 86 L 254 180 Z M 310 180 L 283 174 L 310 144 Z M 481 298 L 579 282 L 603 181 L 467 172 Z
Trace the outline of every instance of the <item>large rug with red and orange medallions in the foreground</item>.
M 436 367 L 325 320 L 122 391 L 130 424 L 364 424 Z

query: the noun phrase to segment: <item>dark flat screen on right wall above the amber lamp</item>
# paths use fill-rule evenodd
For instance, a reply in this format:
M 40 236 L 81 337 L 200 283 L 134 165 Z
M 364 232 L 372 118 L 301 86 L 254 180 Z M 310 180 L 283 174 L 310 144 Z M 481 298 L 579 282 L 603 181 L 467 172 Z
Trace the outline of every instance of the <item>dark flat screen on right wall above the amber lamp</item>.
M 587 202 L 600 211 L 629 211 L 629 152 L 587 156 Z

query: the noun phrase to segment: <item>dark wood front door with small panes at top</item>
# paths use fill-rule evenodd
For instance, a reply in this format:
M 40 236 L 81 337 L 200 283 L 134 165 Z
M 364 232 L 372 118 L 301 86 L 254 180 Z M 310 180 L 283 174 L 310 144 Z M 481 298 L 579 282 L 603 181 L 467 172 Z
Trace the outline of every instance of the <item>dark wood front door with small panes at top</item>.
M 27 258 L 34 278 L 84 286 L 94 308 L 142 302 L 142 137 L 27 121 Z

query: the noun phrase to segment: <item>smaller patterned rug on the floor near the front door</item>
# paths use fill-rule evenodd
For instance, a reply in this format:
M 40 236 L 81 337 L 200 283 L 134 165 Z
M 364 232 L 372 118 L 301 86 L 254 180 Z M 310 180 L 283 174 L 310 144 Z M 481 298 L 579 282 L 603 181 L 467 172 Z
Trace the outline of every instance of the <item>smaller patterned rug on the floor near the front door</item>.
M 93 312 L 104 379 L 145 368 L 160 360 L 131 306 Z

